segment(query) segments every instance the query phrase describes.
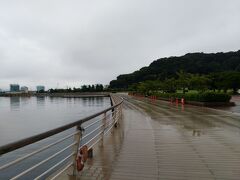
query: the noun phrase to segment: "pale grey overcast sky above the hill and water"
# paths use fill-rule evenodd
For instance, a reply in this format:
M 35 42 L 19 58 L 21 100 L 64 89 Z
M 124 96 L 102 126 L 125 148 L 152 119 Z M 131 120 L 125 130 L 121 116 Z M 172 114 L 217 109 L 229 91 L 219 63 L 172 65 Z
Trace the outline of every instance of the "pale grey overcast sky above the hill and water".
M 239 0 L 0 0 L 0 88 L 108 84 L 153 60 L 240 49 Z

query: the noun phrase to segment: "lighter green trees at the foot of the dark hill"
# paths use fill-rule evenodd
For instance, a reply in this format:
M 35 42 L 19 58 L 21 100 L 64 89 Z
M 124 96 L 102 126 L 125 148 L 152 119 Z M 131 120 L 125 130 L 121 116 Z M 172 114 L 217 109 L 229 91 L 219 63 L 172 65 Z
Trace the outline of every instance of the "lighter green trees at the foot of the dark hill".
M 154 92 L 175 93 L 182 90 L 182 93 L 189 90 L 205 92 L 227 92 L 232 90 L 237 93 L 240 89 L 240 72 L 227 71 L 221 73 L 211 73 L 209 75 L 190 74 L 184 71 L 177 72 L 177 78 L 167 78 L 165 80 L 146 80 L 134 83 L 129 86 L 128 90 L 142 94 L 151 94 Z

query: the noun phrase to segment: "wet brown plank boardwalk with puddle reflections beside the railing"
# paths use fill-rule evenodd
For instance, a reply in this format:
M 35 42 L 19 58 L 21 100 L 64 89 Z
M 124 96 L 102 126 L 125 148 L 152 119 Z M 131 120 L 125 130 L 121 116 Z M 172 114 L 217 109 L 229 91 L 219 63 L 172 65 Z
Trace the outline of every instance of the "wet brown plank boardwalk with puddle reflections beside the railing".
M 240 179 L 240 116 L 125 96 L 123 119 L 77 177 Z

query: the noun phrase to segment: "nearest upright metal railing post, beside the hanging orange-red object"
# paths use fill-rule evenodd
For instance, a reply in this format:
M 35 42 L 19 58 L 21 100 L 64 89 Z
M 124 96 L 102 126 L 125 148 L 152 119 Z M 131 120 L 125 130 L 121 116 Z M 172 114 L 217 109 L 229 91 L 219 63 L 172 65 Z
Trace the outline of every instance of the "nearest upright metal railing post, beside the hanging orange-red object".
M 76 167 L 77 167 L 76 159 L 77 159 L 77 156 L 78 156 L 78 149 L 79 149 L 80 140 L 81 140 L 81 137 L 82 137 L 81 126 L 77 126 L 76 131 L 77 131 L 77 134 L 75 134 L 75 136 L 74 136 L 74 141 L 76 141 L 77 144 L 73 147 L 73 151 L 75 152 L 75 154 L 73 155 L 73 173 L 72 173 L 73 176 L 76 176 L 76 172 L 77 172 L 77 170 L 76 170 Z

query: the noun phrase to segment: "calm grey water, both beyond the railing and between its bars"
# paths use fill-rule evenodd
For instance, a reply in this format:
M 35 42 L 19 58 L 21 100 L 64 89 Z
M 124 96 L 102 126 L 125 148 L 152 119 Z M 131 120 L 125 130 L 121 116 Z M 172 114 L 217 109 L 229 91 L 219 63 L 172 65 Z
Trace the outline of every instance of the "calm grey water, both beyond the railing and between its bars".
M 107 107 L 110 107 L 110 98 L 108 97 L 0 97 L 0 146 L 74 122 Z M 38 143 L 0 156 L 0 166 L 24 156 L 39 147 L 54 142 L 73 131 L 74 129 L 64 131 Z M 17 164 L 16 166 L 0 171 L 0 179 L 10 179 L 72 142 L 73 139 L 71 138 L 66 142 L 62 142 L 38 155 L 28 158 L 21 165 Z M 22 179 L 33 179 L 33 177 L 52 167 L 56 162 L 59 162 L 63 157 L 70 154 L 70 152 L 69 150 L 63 153 L 61 157 L 57 156 L 50 162 L 32 171 L 31 174 L 25 175 Z

